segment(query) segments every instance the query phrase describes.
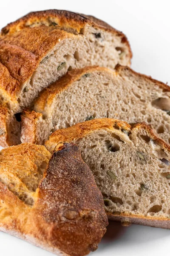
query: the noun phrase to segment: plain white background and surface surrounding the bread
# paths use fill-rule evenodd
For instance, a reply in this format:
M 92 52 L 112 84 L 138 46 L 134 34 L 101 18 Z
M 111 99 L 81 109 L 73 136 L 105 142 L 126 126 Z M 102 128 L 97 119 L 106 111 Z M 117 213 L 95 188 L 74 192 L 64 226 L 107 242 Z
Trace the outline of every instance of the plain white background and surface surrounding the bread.
M 170 84 L 169 0 L 0 0 L 0 27 L 31 11 L 66 9 L 94 15 L 123 31 L 133 51 L 132 68 Z M 94 256 L 169 255 L 170 230 L 111 222 Z M 0 256 L 52 256 L 0 232 Z

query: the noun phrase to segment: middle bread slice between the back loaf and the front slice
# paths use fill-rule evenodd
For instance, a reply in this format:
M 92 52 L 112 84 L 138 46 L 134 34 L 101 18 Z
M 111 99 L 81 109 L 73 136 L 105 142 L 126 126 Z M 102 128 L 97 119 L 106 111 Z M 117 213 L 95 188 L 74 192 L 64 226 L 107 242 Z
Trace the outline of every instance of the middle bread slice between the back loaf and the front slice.
M 21 116 L 21 141 L 44 144 L 51 131 L 93 118 L 151 123 L 170 142 L 170 87 L 128 67 L 72 70 L 42 91 Z

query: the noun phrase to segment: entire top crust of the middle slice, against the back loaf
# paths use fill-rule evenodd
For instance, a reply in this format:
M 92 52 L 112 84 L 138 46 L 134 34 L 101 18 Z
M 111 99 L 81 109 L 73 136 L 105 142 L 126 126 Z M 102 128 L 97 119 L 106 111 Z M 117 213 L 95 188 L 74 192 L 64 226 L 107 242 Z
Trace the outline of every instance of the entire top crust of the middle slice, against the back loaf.
M 36 111 L 44 111 L 46 106 L 50 106 L 55 96 L 61 93 L 63 90 L 66 90 L 71 86 L 75 81 L 79 80 L 82 76 L 87 73 L 93 73 L 95 71 L 112 73 L 113 76 L 136 76 L 136 79 L 145 79 L 148 82 L 153 82 L 155 86 L 159 86 L 163 90 L 170 91 L 170 86 L 152 79 L 150 76 L 146 76 L 140 73 L 136 73 L 130 67 L 124 67 L 119 64 L 116 65 L 116 71 L 110 70 L 105 67 L 84 67 L 79 70 L 71 70 L 65 76 L 62 76 L 58 81 L 51 84 L 49 87 L 42 90 L 40 96 L 35 100 L 34 109 Z

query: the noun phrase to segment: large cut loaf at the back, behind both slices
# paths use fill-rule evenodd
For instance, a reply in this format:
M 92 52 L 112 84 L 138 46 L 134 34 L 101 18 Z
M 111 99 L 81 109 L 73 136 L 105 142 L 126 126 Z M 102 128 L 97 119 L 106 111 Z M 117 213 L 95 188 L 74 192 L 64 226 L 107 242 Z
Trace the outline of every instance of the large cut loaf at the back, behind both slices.
M 68 70 L 130 65 L 131 57 L 126 36 L 101 20 L 61 10 L 31 12 L 1 31 L 0 103 L 14 119 Z

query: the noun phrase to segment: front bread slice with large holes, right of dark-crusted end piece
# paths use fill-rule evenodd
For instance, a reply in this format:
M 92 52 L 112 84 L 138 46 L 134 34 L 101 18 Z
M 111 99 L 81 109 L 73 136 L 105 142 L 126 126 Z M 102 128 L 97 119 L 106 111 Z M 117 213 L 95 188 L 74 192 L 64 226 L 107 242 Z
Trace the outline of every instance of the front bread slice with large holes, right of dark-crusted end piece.
M 79 145 L 109 218 L 170 229 L 170 146 L 151 125 L 94 119 L 55 131 L 46 147 L 65 142 Z

